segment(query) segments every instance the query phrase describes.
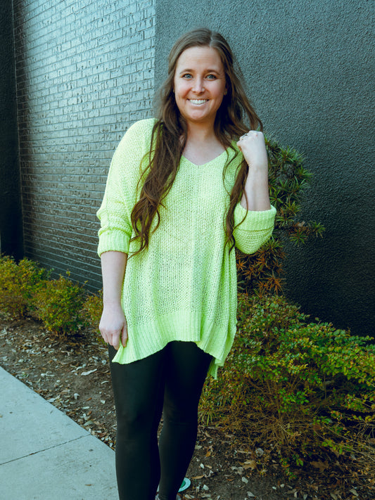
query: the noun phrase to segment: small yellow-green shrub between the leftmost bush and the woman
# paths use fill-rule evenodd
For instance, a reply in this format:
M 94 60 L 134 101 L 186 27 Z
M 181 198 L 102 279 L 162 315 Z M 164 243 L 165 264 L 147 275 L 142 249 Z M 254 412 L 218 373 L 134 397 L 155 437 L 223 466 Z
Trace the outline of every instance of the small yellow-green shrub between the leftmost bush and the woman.
M 49 331 L 74 335 L 85 326 L 82 315 L 84 299 L 83 286 L 72 283 L 70 279 L 60 276 L 46 280 L 34 295 L 37 318 Z

